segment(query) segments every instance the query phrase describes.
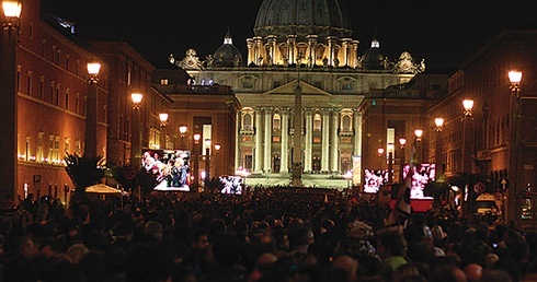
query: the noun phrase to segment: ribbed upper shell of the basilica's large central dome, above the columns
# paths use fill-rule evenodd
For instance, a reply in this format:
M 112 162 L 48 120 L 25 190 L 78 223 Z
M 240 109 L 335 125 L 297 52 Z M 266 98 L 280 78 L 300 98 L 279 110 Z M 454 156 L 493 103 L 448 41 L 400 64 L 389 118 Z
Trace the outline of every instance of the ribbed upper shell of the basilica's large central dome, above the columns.
M 255 19 L 255 36 L 351 37 L 345 7 L 338 0 L 264 0 Z

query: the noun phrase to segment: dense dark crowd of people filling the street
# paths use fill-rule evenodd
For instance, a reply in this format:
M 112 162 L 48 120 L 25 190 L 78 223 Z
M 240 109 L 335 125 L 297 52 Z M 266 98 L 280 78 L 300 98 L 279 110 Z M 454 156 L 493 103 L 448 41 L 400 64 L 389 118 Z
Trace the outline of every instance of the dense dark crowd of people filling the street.
M 322 188 L 28 197 L 0 216 L 0 282 L 537 281 L 534 232 L 389 213 Z

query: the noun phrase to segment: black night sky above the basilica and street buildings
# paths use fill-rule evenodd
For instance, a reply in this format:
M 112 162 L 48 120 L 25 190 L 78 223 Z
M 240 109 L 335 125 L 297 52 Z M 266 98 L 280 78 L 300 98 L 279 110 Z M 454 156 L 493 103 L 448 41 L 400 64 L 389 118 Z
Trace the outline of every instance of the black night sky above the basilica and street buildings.
M 537 28 L 535 0 L 340 0 L 347 7 L 358 55 L 376 33 L 391 60 L 410 51 L 431 72 L 450 72 L 502 28 Z M 262 0 L 42 0 L 75 21 L 83 38 L 125 40 L 157 68 L 194 48 L 201 58 L 224 42 L 228 26 L 245 56 L 245 38 Z

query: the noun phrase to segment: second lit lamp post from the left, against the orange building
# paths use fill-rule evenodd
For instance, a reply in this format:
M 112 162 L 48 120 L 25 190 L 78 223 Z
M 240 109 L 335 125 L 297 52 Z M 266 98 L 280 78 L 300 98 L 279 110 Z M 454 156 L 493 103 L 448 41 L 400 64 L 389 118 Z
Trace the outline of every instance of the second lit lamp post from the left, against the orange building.
M 85 108 L 85 143 L 84 155 L 87 157 L 96 157 L 96 131 L 98 131 L 98 96 L 99 96 L 99 71 L 101 63 L 90 61 L 87 64 L 88 74 L 88 101 Z

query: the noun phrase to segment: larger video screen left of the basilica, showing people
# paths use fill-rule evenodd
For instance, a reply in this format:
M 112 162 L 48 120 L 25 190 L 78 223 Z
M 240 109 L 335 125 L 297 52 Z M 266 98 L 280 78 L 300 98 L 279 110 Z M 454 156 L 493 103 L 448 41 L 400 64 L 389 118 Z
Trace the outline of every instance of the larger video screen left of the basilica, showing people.
M 141 166 L 156 179 L 155 190 L 190 191 L 190 151 L 146 150 Z

